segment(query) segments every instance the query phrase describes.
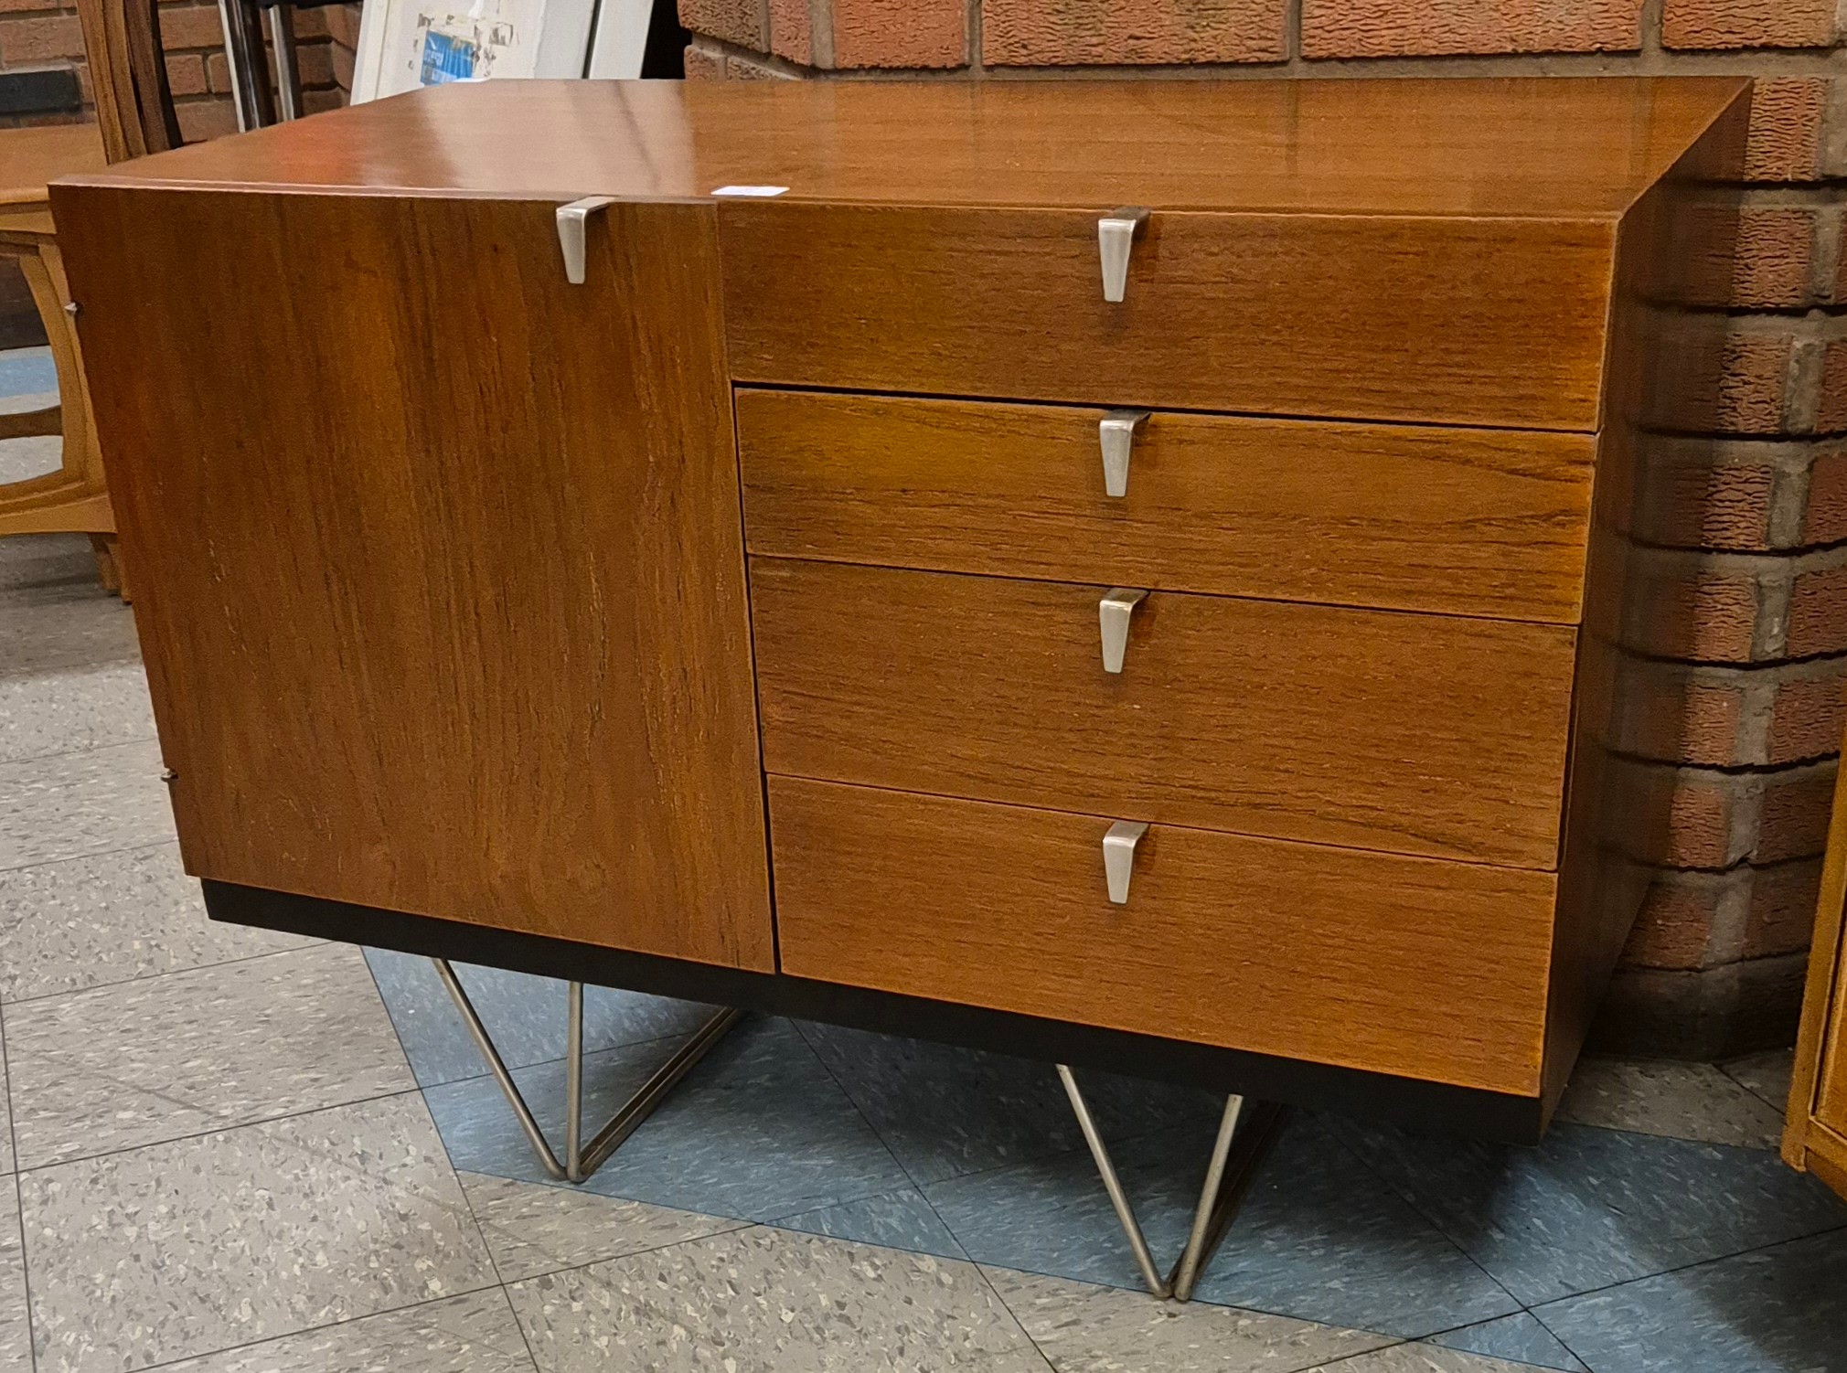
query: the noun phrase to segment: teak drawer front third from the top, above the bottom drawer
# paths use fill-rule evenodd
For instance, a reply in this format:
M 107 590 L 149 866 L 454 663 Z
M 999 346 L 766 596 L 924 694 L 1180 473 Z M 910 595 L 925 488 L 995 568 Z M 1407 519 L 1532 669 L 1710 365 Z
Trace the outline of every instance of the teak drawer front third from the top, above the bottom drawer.
M 1574 633 L 755 557 L 772 773 L 1551 867 Z

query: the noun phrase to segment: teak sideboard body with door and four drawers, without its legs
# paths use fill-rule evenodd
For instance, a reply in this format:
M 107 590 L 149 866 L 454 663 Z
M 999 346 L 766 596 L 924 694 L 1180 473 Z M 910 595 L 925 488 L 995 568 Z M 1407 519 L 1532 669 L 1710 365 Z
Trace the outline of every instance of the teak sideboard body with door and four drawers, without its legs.
M 187 867 L 1535 1137 L 1747 94 L 499 81 L 66 181 Z

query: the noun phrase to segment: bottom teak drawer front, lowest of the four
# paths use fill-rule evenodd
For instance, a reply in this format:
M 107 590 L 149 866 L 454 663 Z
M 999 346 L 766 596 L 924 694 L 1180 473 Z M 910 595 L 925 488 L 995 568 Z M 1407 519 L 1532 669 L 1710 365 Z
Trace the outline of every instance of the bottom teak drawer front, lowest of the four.
M 770 779 L 781 969 L 1533 1094 L 1555 878 Z

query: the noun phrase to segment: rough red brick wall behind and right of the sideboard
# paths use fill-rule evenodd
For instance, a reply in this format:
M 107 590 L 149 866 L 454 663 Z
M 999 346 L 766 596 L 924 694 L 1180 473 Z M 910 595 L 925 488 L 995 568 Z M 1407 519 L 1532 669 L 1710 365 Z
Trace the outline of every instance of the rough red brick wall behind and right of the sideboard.
M 1836 0 L 680 0 L 693 78 L 1758 78 L 1744 257 L 1707 282 L 1727 369 L 1635 517 L 1657 611 L 1624 722 L 1673 794 L 1605 1043 L 1786 1039 L 1847 681 L 1847 68 Z M 1836 72 L 1841 76 L 1836 79 Z

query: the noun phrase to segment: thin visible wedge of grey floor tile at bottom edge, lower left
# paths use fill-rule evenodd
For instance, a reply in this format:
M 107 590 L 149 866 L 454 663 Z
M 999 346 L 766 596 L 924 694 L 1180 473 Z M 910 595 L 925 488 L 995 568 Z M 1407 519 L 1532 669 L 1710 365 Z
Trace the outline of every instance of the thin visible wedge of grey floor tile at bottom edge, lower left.
M 534 1373 L 499 1288 L 166 1364 L 161 1373 Z

